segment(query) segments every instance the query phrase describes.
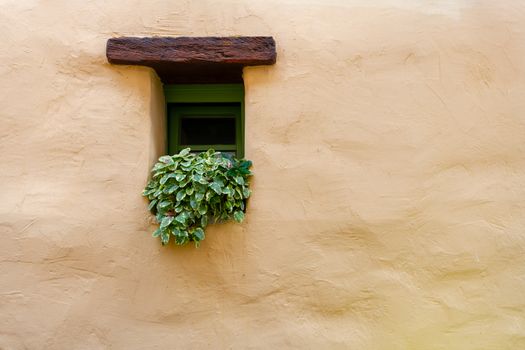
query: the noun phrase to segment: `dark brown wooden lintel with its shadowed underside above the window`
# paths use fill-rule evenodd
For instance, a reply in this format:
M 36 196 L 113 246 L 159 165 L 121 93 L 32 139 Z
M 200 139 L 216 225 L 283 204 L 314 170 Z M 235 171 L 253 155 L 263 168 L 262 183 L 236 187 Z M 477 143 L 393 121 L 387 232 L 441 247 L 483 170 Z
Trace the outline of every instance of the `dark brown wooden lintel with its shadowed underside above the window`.
M 164 82 L 237 82 L 242 67 L 274 64 L 272 37 L 122 37 L 109 39 L 112 64 L 155 69 Z

